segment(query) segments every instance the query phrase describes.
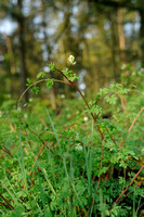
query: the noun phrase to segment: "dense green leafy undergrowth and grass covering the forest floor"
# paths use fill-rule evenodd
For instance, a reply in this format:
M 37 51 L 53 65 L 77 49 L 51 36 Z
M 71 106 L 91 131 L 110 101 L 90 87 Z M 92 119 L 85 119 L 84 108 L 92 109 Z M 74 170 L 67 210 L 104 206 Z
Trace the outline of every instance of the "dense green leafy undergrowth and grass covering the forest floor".
M 55 71 L 55 65 L 49 67 Z M 51 88 L 57 80 L 45 75 L 38 74 L 42 80 L 36 82 L 27 79 L 28 88 L 37 93 L 36 85 L 42 81 Z M 77 79 L 69 69 L 62 75 L 71 82 Z M 136 71 L 136 77 L 129 78 L 134 91 L 127 79 L 101 89 L 89 103 L 84 97 L 61 99 L 58 119 L 41 101 L 18 111 L 13 104 L 11 111 L 1 107 L 2 216 L 135 215 L 144 196 L 144 169 L 135 177 L 144 164 L 144 120 L 142 113 L 138 116 L 143 75 Z M 112 113 L 108 119 L 103 118 L 105 111 Z

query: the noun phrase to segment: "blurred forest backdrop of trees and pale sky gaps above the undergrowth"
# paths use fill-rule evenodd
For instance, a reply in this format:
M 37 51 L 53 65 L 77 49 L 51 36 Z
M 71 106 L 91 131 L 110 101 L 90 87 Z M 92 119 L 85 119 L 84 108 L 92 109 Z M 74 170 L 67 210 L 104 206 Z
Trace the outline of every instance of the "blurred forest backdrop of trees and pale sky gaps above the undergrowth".
M 144 1 L 0 1 L 0 104 L 17 100 L 26 79 L 49 71 L 48 63 L 64 68 L 69 54 L 76 56 L 79 88 L 89 97 L 119 81 L 122 64 L 144 66 Z M 73 92 L 56 85 L 42 95 L 55 110 L 56 95 Z

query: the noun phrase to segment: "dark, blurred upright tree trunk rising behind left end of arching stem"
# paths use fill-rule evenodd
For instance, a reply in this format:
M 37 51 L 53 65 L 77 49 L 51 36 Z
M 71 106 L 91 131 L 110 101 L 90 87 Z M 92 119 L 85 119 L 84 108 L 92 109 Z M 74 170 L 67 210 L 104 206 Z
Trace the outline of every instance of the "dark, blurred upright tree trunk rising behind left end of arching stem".
M 23 0 L 17 0 L 17 24 L 18 24 L 18 46 L 19 46 L 19 68 L 21 68 L 21 93 L 26 89 L 26 43 L 25 43 L 25 16 L 23 15 Z M 24 101 L 28 101 L 28 92 L 24 95 Z

